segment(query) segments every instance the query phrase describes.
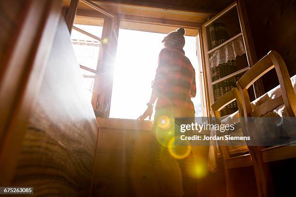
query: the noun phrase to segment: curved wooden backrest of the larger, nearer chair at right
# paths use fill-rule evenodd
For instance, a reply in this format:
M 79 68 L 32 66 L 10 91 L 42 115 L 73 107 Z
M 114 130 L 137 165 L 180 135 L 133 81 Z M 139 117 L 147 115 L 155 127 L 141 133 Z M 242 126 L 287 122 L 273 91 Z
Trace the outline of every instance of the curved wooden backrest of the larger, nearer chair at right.
M 266 72 L 275 68 L 281 85 L 281 97 L 266 101 L 266 103 L 253 107 L 251 106 L 248 88 L 262 77 Z M 290 117 L 296 115 L 296 95 L 290 80 L 290 75 L 284 60 L 276 51 L 270 51 L 252 66 L 238 81 L 237 87 L 242 97 L 244 115 L 246 117 L 260 117 L 271 112 L 281 104 L 285 105 L 287 114 Z

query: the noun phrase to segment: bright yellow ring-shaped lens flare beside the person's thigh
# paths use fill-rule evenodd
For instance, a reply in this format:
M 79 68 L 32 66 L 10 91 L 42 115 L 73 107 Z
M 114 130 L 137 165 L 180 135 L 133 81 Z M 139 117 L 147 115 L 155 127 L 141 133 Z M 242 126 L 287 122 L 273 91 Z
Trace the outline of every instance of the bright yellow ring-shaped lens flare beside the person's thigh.
M 175 141 L 173 137 L 168 143 L 168 151 L 176 159 L 186 158 L 191 151 L 191 145 L 189 141 Z

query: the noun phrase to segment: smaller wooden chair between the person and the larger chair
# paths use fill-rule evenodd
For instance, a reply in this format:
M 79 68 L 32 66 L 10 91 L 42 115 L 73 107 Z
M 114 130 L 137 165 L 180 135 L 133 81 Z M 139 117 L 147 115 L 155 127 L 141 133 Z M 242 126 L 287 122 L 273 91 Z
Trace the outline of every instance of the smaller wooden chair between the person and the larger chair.
M 218 123 L 216 122 L 217 124 L 221 123 L 222 117 L 220 116 L 220 111 L 223 109 L 223 107 L 233 102 L 234 100 L 237 100 L 237 108 L 238 108 L 239 116 L 244 117 L 244 111 L 242 109 L 242 100 L 241 100 L 238 89 L 235 87 L 232 90 L 228 91 L 226 94 L 224 94 L 222 97 L 220 97 L 218 100 L 216 100 L 216 102 L 211 106 L 214 112 L 216 121 L 218 121 Z M 242 122 L 240 124 L 242 124 L 241 128 L 244 129 L 244 123 Z M 253 166 L 252 157 L 249 153 L 244 155 L 239 155 L 239 156 L 231 156 L 225 145 L 219 145 L 218 143 L 218 146 L 222 155 L 222 161 L 224 166 L 227 197 L 235 197 L 234 180 L 230 173 L 230 169 Z M 260 179 L 257 179 L 257 176 L 256 176 L 257 189 L 258 188 L 260 189 L 261 187 L 258 187 L 258 184 L 259 186 L 261 184 L 258 183 L 258 181 L 260 181 Z M 258 191 L 258 194 L 260 193 L 262 192 Z

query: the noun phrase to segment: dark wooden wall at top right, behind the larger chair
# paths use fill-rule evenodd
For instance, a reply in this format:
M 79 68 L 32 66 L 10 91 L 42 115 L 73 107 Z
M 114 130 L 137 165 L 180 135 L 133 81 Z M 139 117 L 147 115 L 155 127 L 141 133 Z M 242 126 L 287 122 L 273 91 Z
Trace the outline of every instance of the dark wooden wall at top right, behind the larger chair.
M 291 76 L 296 74 L 296 1 L 245 0 L 258 60 L 270 50 L 283 57 Z M 265 90 L 279 82 L 275 70 L 263 77 Z

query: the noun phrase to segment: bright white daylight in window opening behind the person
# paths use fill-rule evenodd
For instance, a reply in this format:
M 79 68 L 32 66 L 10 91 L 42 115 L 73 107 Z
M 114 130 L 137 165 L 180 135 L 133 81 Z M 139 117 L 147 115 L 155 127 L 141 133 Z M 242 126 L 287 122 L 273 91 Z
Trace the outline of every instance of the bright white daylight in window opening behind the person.
M 151 82 L 154 79 L 158 55 L 166 34 L 119 29 L 118 48 L 111 98 L 111 118 L 136 119 L 147 108 Z M 192 99 L 195 115 L 201 116 L 199 70 L 196 38 L 185 36 L 185 55 L 196 72 L 196 97 Z

